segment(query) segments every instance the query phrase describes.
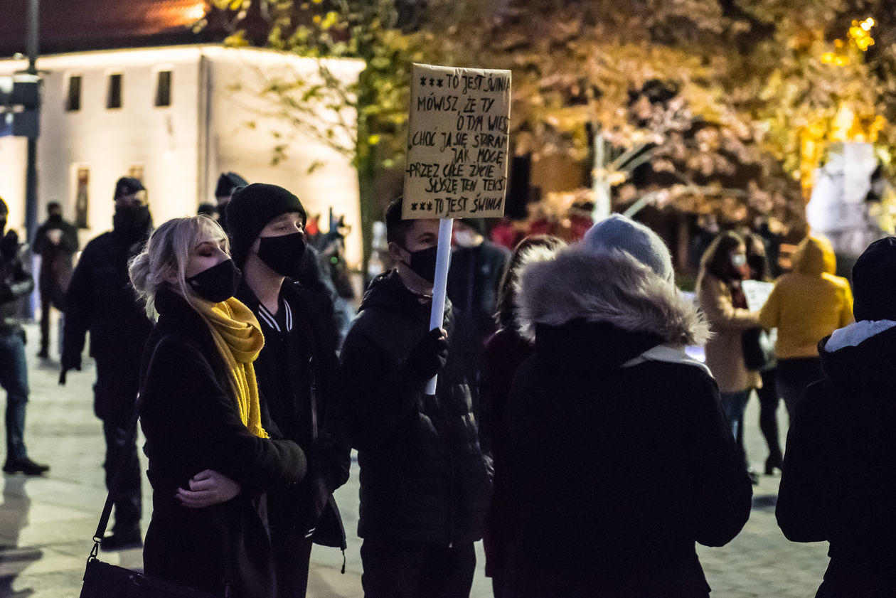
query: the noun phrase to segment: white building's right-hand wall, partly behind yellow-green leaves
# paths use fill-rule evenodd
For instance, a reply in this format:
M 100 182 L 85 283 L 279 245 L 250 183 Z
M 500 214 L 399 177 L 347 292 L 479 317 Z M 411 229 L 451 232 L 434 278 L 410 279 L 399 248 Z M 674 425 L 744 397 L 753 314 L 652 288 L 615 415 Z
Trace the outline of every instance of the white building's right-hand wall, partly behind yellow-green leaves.
M 318 66 L 310 58 L 280 52 L 246 48 L 208 48 L 211 63 L 211 132 L 208 188 L 214 191 L 220 172 L 237 172 L 249 182 L 272 183 L 288 188 L 302 201 L 309 216 L 321 215 L 321 227 L 327 230 L 329 209 L 345 215 L 351 226 L 346 239 L 349 264 L 361 261 L 361 216 L 358 204 L 358 175 L 348 157 L 326 143 L 311 138 L 271 112 L 270 100 L 261 91 L 267 81 L 277 77 L 317 78 Z M 329 61 L 332 73 L 344 81 L 356 81 L 364 68 L 359 60 Z M 236 89 L 238 88 L 238 90 Z M 311 106 L 314 109 L 314 105 Z M 318 103 L 315 117 L 334 121 L 335 113 Z M 344 122 L 354 124 L 353 110 L 341 113 Z M 249 124 L 252 126 L 249 126 Z M 273 132 L 280 133 L 280 139 Z M 354 132 L 340 133 L 334 142 L 354 145 Z M 287 160 L 272 164 L 273 147 L 288 143 Z M 321 166 L 309 173 L 312 164 Z

